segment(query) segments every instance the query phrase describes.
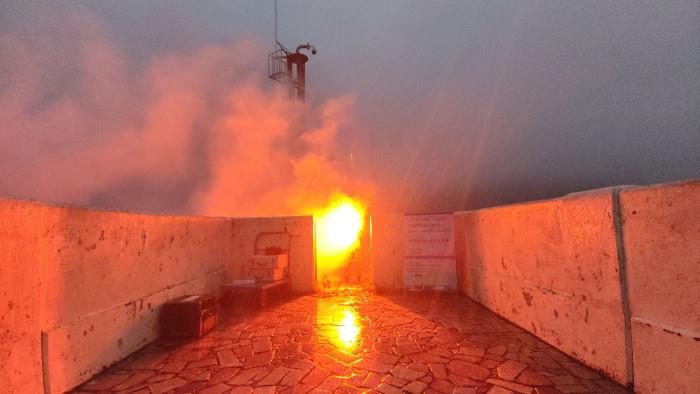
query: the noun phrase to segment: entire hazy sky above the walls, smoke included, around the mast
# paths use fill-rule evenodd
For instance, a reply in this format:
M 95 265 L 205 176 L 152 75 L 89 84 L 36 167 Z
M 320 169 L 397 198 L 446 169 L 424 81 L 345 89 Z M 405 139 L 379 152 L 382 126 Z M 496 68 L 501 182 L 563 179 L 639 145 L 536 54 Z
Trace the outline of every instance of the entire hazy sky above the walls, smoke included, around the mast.
M 700 2 L 279 0 L 278 31 L 319 49 L 306 105 L 265 78 L 272 1 L 4 1 L 0 195 L 436 212 L 700 176 Z

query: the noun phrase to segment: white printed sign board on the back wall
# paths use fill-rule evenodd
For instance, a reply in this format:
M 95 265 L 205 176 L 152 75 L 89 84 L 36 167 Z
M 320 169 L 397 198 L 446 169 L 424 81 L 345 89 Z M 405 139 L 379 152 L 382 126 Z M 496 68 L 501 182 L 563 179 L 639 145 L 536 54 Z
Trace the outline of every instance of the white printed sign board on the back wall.
M 404 216 L 404 287 L 456 290 L 454 216 Z

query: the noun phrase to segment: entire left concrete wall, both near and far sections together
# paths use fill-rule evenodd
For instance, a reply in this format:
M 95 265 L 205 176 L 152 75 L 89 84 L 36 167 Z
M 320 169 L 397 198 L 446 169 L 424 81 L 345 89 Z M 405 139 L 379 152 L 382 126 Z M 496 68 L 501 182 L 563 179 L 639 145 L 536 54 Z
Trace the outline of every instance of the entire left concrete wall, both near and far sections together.
M 157 338 L 161 304 L 218 289 L 232 230 L 0 200 L 3 392 L 63 392 Z

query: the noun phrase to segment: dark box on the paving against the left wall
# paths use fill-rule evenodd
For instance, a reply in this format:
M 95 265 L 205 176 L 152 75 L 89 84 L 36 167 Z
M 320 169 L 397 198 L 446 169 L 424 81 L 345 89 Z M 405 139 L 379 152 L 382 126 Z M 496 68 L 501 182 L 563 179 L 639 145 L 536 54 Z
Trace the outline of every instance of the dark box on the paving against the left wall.
M 161 338 L 199 338 L 216 327 L 219 304 L 212 295 L 187 295 L 163 305 Z

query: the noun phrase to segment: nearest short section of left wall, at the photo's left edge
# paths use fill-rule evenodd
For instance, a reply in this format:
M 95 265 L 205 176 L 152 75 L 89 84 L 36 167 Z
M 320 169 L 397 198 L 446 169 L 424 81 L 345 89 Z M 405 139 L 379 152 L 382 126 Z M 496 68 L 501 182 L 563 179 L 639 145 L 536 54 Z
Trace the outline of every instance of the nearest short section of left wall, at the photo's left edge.
M 0 382 L 5 393 L 40 393 L 39 259 L 43 208 L 0 200 Z

